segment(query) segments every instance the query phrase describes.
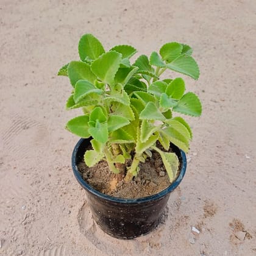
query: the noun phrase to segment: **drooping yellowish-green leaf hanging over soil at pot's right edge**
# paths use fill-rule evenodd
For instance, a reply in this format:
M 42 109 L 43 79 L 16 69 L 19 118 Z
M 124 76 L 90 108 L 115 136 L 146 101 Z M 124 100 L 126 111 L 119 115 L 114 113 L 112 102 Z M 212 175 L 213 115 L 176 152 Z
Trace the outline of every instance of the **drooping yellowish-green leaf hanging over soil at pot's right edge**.
M 175 153 L 163 152 L 156 147 L 153 148 L 161 155 L 169 180 L 170 182 L 173 182 L 176 179 L 177 172 L 179 171 L 179 158 Z

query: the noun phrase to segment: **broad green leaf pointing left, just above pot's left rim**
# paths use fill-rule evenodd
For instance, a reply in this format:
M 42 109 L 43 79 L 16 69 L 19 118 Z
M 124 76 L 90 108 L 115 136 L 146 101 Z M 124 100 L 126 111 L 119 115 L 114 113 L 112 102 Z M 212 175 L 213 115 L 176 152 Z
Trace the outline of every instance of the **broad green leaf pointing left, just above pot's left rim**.
M 81 138 L 89 138 L 90 133 L 88 132 L 88 121 L 88 115 L 77 116 L 68 121 L 68 123 L 66 124 L 66 129 L 69 130 L 69 132 L 72 132 Z

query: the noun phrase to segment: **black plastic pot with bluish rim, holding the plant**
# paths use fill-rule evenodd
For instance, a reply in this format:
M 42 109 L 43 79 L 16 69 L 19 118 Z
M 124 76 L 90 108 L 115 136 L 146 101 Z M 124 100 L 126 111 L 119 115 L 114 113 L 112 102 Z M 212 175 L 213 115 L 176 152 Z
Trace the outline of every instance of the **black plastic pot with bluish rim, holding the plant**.
M 77 164 L 84 159 L 90 139 L 80 139 L 72 155 L 74 176 L 87 193 L 94 220 L 108 235 L 131 239 L 151 232 L 160 221 L 171 191 L 182 181 L 187 160 L 183 151 L 172 145 L 181 163 L 179 177 L 158 194 L 137 199 L 124 199 L 102 194 L 90 187 L 80 176 Z

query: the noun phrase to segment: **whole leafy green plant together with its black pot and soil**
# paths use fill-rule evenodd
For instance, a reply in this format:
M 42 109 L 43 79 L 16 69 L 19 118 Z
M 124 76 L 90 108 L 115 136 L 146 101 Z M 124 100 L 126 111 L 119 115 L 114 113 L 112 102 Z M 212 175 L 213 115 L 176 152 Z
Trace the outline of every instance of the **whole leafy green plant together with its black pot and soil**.
M 185 93 L 181 77 L 161 80 L 160 75 L 170 69 L 198 79 L 199 68 L 190 46 L 176 42 L 164 44 L 149 58 L 140 55 L 133 64 L 135 48 L 118 45 L 105 51 L 91 34 L 80 38 L 78 49 L 80 60 L 59 71 L 73 87 L 66 108 L 83 111 L 66 124 L 82 138 L 73 151 L 74 175 L 106 233 L 117 238 L 144 235 L 157 226 L 169 194 L 185 174 L 192 133 L 174 113 L 200 116 L 202 111 L 196 94 Z M 152 175 L 146 182 L 144 172 Z M 153 176 L 167 180 L 165 187 L 152 182 Z M 116 191 L 122 189 L 120 196 Z

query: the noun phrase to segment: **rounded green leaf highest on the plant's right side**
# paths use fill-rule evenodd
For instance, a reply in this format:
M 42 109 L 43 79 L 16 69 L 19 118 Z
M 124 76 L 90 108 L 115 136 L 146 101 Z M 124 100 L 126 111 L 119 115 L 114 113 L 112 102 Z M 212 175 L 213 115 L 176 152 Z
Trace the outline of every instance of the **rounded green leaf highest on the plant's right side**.
M 182 52 L 182 45 L 176 42 L 166 43 L 160 49 L 160 55 L 162 59 L 165 60 L 167 63 L 172 62 Z

